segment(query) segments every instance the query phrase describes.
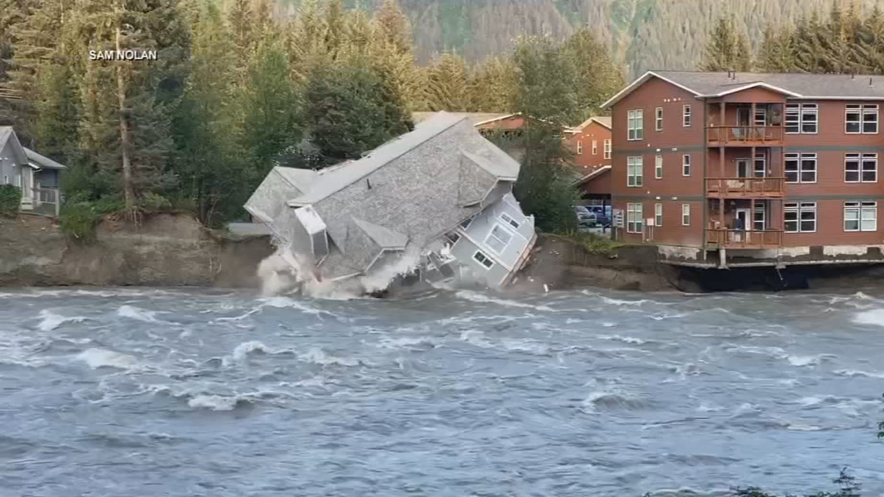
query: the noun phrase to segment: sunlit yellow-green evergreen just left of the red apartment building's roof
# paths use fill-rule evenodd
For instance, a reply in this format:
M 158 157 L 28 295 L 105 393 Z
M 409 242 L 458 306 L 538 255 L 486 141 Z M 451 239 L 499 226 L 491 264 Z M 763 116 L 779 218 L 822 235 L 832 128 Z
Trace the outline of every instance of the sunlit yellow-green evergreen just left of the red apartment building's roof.
M 623 73 L 611 60 L 610 51 L 596 35 L 583 27 L 565 43 L 576 68 L 575 91 L 580 106 L 578 121 L 598 115 L 602 103 L 623 88 Z M 746 53 L 750 53 L 745 49 Z M 741 69 L 743 70 L 743 69 Z M 748 68 L 747 68 L 748 70 Z

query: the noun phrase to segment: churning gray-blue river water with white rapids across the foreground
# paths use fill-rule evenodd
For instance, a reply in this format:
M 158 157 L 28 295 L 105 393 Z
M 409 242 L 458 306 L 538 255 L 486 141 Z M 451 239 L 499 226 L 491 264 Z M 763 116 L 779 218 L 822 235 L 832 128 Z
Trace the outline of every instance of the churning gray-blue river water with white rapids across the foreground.
M 0 496 L 884 492 L 884 301 L 0 294 Z

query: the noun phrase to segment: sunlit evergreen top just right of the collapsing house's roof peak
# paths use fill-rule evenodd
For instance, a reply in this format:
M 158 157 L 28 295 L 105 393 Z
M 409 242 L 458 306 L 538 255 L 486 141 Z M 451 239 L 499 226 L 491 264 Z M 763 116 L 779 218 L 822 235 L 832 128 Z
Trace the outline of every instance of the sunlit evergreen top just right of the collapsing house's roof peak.
M 513 61 L 492 57 L 475 65 L 469 73 L 469 110 L 508 111 L 515 91 Z

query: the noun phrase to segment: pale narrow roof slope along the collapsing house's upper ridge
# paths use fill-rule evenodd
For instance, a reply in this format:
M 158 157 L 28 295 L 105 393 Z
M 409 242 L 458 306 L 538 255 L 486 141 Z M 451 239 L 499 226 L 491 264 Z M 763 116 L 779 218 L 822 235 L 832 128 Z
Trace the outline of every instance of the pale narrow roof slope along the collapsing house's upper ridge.
M 319 202 L 325 197 L 339 192 L 341 188 L 362 180 L 385 164 L 415 149 L 424 141 L 430 140 L 466 119 L 461 115 L 447 112 L 437 112 L 436 114 L 433 119 L 418 123 L 411 133 L 402 134 L 392 141 L 386 142 L 359 160 L 338 164 L 319 172 L 309 191 L 289 201 L 289 205 L 298 206 Z

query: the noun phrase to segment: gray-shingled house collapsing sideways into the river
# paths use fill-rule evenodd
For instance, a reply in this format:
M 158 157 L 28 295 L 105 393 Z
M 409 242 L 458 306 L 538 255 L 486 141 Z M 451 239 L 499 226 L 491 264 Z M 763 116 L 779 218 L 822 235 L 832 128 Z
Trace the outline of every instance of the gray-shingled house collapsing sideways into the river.
M 416 270 L 505 287 L 537 239 L 512 195 L 519 163 L 469 119 L 438 112 L 359 160 L 275 167 L 245 208 L 316 279 Z

